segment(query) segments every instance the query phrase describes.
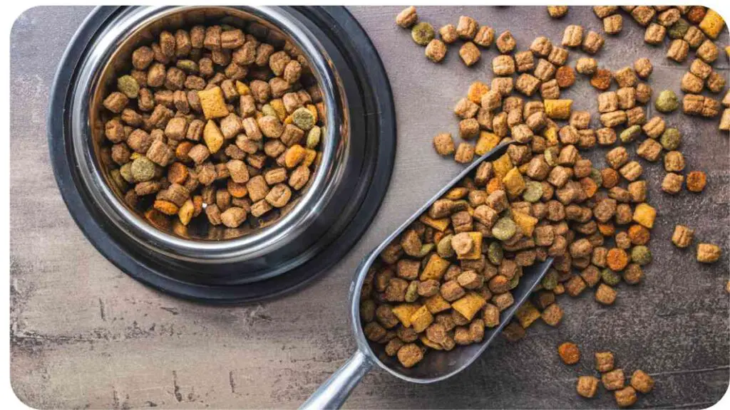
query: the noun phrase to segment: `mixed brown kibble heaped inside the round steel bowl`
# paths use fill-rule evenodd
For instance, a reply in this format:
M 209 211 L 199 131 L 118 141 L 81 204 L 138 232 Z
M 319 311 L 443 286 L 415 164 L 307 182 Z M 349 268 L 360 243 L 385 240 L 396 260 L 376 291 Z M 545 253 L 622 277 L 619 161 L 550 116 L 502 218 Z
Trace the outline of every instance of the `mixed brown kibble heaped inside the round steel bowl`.
M 104 99 L 110 176 L 154 225 L 204 213 L 258 228 L 310 180 L 324 107 L 307 61 L 289 42 L 264 42 L 263 26 L 247 31 L 162 31 Z

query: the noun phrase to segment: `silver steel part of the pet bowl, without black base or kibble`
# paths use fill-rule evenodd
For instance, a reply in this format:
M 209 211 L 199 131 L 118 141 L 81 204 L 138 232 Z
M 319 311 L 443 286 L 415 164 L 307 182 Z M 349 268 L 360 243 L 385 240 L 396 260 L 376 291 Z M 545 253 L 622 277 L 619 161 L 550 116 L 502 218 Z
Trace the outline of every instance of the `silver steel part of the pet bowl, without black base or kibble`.
M 280 219 L 264 228 L 253 229 L 247 225 L 245 228 L 225 228 L 208 223 L 188 228 L 176 219 L 168 229 L 156 227 L 148 223 L 141 212 L 124 203 L 122 193 L 104 166 L 100 152 L 106 113 L 101 101 L 115 79 L 131 68 L 132 51 L 140 45 L 150 44 L 161 30 L 174 31 L 195 24 L 220 23 L 221 20 L 258 34 L 262 40 L 274 45 L 283 45 L 288 40 L 307 58 L 326 105 L 323 155 L 301 196 L 283 210 Z M 318 39 L 281 9 L 245 6 L 129 8 L 99 34 L 78 70 L 71 117 L 74 155 L 93 201 L 130 239 L 151 251 L 180 260 L 208 263 L 251 260 L 277 252 L 291 241 L 306 240 L 303 234 L 331 201 L 349 153 L 347 107 L 338 87 L 337 75 Z

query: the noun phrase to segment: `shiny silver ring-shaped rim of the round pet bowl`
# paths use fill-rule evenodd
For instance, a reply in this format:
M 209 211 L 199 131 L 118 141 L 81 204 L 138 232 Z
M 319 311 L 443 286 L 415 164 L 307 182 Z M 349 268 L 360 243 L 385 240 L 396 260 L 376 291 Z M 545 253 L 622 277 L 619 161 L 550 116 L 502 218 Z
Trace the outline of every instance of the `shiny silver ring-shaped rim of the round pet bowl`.
M 272 225 L 234 239 L 191 240 L 155 228 L 132 212 L 121 198 L 113 192 L 110 182 L 102 171 L 96 152 L 89 148 L 93 144 L 93 125 L 90 120 L 91 96 L 101 85 L 101 74 L 110 69 L 120 45 L 162 18 L 189 12 L 193 9 L 212 9 L 233 15 L 250 15 L 275 26 L 292 41 L 307 57 L 312 74 L 318 82 L 326 109 L 326 136 L 323 138 L 322 160 L 313 174 L 314 181 L 302 193 L 297 204 Z M 88 45 L 72 84 L 72 150 L 93 201 L 101 206 L 109 220 L 139 244 L 153 252 L 163 252 L 180 260 L 195 262 L 220 262 L 250 260 L 269 254 L 289 241 L 301 236 L 331 199 L 334 187 L 342 176 L 348 152 L 347 109 L 340 107 L 340 93 L 337 90 L 337 75 L 329 63 L 326 52 L 310 35 L 307 28 L 298 23 L 283 9 L 277 7 L 253 6 L 159 6 L 129 7 L 115 15 L 112 23 L 102 28 L 102 33 Z M 346 104 L 346 102 L 344 102 Z M 343 105 L 344 105 L 343 104 Z

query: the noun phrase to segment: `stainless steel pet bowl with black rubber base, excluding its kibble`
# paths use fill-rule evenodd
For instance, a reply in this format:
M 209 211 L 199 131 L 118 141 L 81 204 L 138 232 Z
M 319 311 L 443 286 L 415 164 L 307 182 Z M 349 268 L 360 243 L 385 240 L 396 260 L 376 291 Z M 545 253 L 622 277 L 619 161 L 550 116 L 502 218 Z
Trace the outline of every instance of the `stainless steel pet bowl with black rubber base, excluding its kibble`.
M 254 23 L 267 41 L 288 39 L 306 56 L 327 105 L 323 155 L 299 201 L 260 231 L 159 230 L 124 204 L 102 166 L 101 97 L 161 28 L 221 18 Z M 337 263 L 376 214 L 395 158 L 388 77 L 344 7 L 97 7 L 66 48 L 48 111 L 55 179 L 89 241 L 134 279 L 207 303 L 281 295 Z

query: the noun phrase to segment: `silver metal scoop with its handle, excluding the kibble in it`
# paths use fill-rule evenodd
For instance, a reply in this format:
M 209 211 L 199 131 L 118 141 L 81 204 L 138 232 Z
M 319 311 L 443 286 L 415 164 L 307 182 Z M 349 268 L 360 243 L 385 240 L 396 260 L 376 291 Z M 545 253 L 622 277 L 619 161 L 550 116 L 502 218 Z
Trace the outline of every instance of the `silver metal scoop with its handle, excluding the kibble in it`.
M 495 160 L 507 152 L 507 147 L 512 142 L 500 144 L 490 152 L 487 152 L 481 158 L 472 163 L 471 166 L 464 169 L 454 179 L 451 180 L 439 193 L 430 201 L 421 206 L 418 211 L 413 214 L 403 225 L 401 225 L 391 236 L 383 241 L 380 246 L 375 248 L 358 266 L 356 275 L 350 285 L 350 321 L 353 325 L 353 333 L 358 344 L 358 349 L 342 365 L 324 384 L 322 384 L 316 392 L 301 405 L 300 409 L 339 409 L 342 403 L 345 403 L 347 396 L 353 388 L 360 382 L 363 376 L 373 367 L 379 365 L 380 368 L 408 382 L 427 384 L 439 382 L 447 379 L 454 374 L 464 370 L 468 365 L 472 364 L 477 357 L 489 346 L 489 344 L 502 331 L 504 325 L 510 322 L 512 316 L 518 307 L 527 300 L 534 287 L 545 276 L 553 258 L 548 258 L 545 262 L 537 263 L 533 266 L 523 268 L 523 275 L 520 278 L 518 287 L 512 290 L 515 303 L 500 314 L 499 326 L 496 328 L 487 328 L 484 332 L 484 339 L 481 343 L 469 344 L 468 346 L 458 346 L 450 351 L 429 350 L 428 354 L 423 356 L 417 365 L 412 368 L 404 368 L 396 359 L 396 357 L 388 357 L 383 351 L 383 346 L 369 342 L 365 338 L 363 328 L 360 321 L 360 290 L 362 288 L 365 276 L 372 263 L 377 259 L 380 252 L 388 246 L 388 244 L 396 239 L 399 234 L 415 221 L 420 214 L 426 212 L 429 206 L 437 199 L 441 198 L 447 190 L 458 184 L 466 175 L 472 172 L 480 163 L 485 160 Z

